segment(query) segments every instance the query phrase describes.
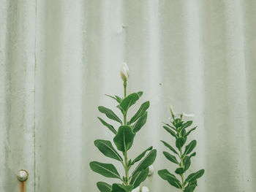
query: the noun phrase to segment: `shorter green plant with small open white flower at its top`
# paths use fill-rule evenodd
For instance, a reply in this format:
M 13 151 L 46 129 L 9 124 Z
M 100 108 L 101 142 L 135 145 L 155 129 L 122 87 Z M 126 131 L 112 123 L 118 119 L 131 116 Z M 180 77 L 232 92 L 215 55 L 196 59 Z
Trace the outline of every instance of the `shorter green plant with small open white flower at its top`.
M 186 114 L 184 113 L 179 114 L 179 117 L 176 118 L 177 114 L 173 112 L 171 106 L 170 112 L 172 116 L 170 120 L 171 125 L 165 123 L 165 126 L 163 126 L 163 128 L 165 128 L 165 130 L 176 139 L 176 148 L 178 150 L 176 150 L 175 147 L 169 145 L 167 142 L 161 142 L 173 153 L 173 155 L 171 155 L 166 151 L 163 152 L 165 158 L 167 158 L 172 163 L 178 165 L 178 168 L 175 170 L 175 173 L 181 177 L 181 180 L 178 180 L 178 178 L 174 174 L 171 174 L 167 169 L 159 170 L 158 174 L 160 177 L 162 177 L 163 180 L 167 180 L 167 182 L 170 183 L 170 185 L 173 185 L 174 187 L 181 189 L 181 191 L 192 192 L 195 190 L 195 187 L 197 186 L 197 179 L 202 177 L 205 171 L 204 169 L 200 169 L 198 172 L 189 174 L 187 178 L 184 177 L 184 174 L 187 172 L 187 169 L 189 169 L 189 166 L 191 164 L 191 158 L 196 155 L 195 152 L 192 153 L 192 150 L 194 150 L 197 142 L 196 140 L 192 140 L 191 142 L 189 142 L 189 145 L 187 145 L 184 150 L 183 146 L 185 145 L 189 134 L 192 131 L 194 131 L 195 128 L 197 127 L 191 128 L 188 131 L 187 128 L 192 125 L 192 120 L 184 121 L 182 119 L 184 116 L 186 116 Z M 179 160 L 177 160 L 176 156 L 178 156 Z

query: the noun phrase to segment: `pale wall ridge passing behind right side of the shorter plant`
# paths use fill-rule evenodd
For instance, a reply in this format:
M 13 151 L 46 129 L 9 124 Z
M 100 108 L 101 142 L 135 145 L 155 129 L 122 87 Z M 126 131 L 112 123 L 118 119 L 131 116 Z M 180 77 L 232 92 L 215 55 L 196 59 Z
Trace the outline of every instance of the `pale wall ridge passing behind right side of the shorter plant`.
M 204 94 L 204 79 L 205 79 L 205 61 L 203 58 L 203 30 L 202 30 L 202 6 L 200 1 L 184 1 L 182 4 L 183 14 L 184 14 L 184 28 L 185 28 L 185 40 L 186 47 L 184 49 L 184 55 L 186 57 L 186 68 L 184 71 L 184 78 L 186 83 L 186 103 L 187 113 L 195 113 L 195 120 L 193 120 L 193 125 L 197 126 L 197 133 L 192 133 L 190 135 L 189 141 L 192 139 L 197 140 L 196 153 L 197 155 L 193 158 L 192 166 L 188 171 L 188 174 L 192 172 L 197 172 L 200 169 L 204 169 L 202 165 L 206 164 L 206 124 L 204 120 L 205 114 L 205 94 Z M 200 101 L 197 99 L 200 98 Z M 188 176 L 186 175 L 186 177 Z M 206 172 L 206 174 L 209 174 Z M 206 182 L 203 177 L 198 181 L 197 190 L 207 191 Z

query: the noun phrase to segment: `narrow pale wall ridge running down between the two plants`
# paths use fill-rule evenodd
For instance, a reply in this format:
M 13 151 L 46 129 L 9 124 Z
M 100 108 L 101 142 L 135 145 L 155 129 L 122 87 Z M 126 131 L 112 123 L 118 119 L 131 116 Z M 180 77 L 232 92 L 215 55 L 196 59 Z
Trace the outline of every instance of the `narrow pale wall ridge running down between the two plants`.
M 143 84 L 145 91 L 148 94 L 148 99 L 151 102 L 151 109 L 148 113 L 148 126 L 146 127 L 147 131 L 146 128 L 144 131 L 147 133 L 149 131 L 149 133 L 154 135 L 154 137 L 148 137 L 146 134 L 143 134 L 142 137 L 146 137 L 146 143 L 148 145 L 153 145 L 159 149 L 159 126 L 160 122 L 162 122 L 159 109 L 162 96 L 162 90 L 160 88 L 162 78 L 159 69 L 162 62 L 159 58 L 159 1 L 147 1 L 143 7 L 145 7 L 144 22 L 146 23 L 146 38 L 143 43 L 144 49 L 146 50 L 146 57 L 144 61 L 146 66 L 144 66 L 143 72 L 147 74 L 146 81 Z M 159 169 L 157 164 L 154 164 L 154 168 L 156 170 Z M 145 185 L 147 185 L 148 188 L 151 188 L 151 191 L 159 191 L 159 180 L 151 180 L 151 182 L 146 181 Z

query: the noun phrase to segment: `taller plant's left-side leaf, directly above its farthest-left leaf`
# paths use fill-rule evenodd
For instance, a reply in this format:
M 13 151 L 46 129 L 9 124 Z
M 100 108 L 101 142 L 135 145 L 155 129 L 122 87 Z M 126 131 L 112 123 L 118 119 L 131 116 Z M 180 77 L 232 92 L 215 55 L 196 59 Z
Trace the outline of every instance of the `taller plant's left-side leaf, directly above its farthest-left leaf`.
M 94 145 L 103 153 L 105 156 L 109 158 L 116 159 L 118 161 L 123 161 L 121 156 L 114 149 L 113 145 L 108 140 L 97 139 L 94 141 Z

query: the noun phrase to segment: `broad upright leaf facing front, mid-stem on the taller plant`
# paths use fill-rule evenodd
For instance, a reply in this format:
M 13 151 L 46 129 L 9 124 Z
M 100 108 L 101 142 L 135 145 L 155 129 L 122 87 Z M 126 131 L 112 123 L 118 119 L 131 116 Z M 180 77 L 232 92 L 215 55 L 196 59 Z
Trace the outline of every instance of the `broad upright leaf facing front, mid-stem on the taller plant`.
M 124 152 L 132 147 L 134 137 L 135 134 L 132 132 L 130 126 L 120 126 L 113 141 L 116 144 L 117 149 Z

